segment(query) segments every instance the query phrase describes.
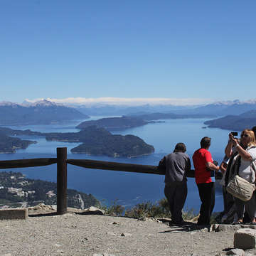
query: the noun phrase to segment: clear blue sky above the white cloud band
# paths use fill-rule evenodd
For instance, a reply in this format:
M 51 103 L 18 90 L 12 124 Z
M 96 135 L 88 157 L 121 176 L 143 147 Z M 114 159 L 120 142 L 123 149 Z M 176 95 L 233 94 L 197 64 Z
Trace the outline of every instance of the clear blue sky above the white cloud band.
M 0 101 L 256 98 L 255 10 L 255 0 L 0 0 Z

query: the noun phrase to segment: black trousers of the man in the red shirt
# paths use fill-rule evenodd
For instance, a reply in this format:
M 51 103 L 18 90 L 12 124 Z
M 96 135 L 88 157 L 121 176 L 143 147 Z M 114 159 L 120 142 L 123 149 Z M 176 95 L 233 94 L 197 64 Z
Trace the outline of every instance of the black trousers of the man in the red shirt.
M 215 186 L 214 182 L 197 184 L 199 196 L 201 199 L 200 215 L 198 225 L 209 225 L 210 215 L 213 212 L 215 204 Z

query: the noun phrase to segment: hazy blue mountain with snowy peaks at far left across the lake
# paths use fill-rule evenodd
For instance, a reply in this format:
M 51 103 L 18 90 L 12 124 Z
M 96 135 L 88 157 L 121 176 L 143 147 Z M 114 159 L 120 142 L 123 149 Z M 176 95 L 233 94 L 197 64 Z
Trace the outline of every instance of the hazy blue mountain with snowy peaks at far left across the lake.
M 54 124 L 89 118 L 72 107 L 42 100 L 33 105 L 0 102 L 0 125 Z

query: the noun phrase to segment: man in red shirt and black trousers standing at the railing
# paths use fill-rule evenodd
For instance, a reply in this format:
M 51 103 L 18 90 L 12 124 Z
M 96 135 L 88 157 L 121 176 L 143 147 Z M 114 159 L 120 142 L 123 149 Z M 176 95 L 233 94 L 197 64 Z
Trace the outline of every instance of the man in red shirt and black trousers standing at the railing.
M 219 166 L 213 164 L 213 159 L 208 151 L 210 147 L 210 138 L 201 139 L 201 148 L 193 154 L 193 165 L 195 167 L 196 185 L 198 186 L 201 199 L 200 215 L 198 225 L 209 225 L 210 215 L 213 212 L 215 204 L 215 171 Z

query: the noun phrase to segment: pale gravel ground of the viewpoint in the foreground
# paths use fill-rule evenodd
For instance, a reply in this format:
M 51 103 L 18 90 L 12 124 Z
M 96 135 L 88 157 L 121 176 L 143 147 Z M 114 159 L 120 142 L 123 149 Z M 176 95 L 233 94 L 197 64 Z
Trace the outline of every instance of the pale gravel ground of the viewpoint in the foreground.
M 223 255 L 233 247 L 233 232 L 191 227 L 107 215 L 35 214 L 26 220 L 0 220 L 0 255 L 195 256 Z

